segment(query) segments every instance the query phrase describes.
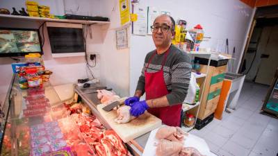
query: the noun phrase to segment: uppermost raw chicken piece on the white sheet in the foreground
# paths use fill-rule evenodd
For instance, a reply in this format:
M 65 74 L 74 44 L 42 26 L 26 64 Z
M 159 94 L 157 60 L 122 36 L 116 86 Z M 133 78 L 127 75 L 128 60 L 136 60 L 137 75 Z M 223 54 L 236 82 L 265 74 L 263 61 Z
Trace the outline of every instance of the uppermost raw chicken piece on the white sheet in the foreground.
M 179 127 L 164 126 L 156 132 L 156 139 L 167 139 L 169 141 L 177 141 L 183 143 L 184 137 L 188 135 Z

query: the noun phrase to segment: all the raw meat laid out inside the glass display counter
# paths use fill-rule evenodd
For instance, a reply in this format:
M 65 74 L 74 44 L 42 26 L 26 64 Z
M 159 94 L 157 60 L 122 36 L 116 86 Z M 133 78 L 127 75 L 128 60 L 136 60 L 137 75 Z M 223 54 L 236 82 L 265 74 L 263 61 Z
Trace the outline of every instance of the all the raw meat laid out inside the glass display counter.
M 51 155 L 61 151 L 82 156 L 131 155 L 116 132 L 106 130 L 97 117 L 90 114 L 88 107 L 80 103 L 50 105 L 49 100 L 44 88 L 26 90 L 22 116 L 17 120 L 24 129 L 16 125 L 22 132 L 20 138 L 25 141 L 22 153 Z M 13 150 L 9 144 L 12 139 L 10 135 L 3 143 L 7 155 Z

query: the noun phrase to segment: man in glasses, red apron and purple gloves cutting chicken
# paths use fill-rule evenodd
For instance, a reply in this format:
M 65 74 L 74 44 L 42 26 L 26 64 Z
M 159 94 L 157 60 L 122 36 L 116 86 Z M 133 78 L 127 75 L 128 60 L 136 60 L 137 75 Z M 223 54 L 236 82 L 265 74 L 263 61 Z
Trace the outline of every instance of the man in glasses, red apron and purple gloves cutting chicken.
M 180 126 L 181 103 L 186 98 L 191 76 L 188 55 L 171 44 L 175 22 L 169 15 L 154 20 L 152 39 L 156 49 L 147 53 L 134 96 L 124 101 L 131 115 L 147 110 L 166 125 Z M 146 100 L 140 97 L 146 93 Z

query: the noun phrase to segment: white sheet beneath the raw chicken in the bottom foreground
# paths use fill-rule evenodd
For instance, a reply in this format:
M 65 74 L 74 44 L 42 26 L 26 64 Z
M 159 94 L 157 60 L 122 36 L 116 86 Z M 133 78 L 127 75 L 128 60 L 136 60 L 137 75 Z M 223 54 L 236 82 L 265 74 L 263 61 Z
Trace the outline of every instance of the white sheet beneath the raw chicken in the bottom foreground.
M 156 139 L 157 130 L 158 128 L 152 130 L 151 134 L 149 135 L 149 139 L 147 141 L 142 156 L 156 156 L 156 146 L 154 145 L 158 143 L 158 139 Z M 211 153 L 204 139 L 199 138 L 195 135 L 190 135 L 189 133 L 188 136 L 185 137 L 183 146 L 196 148 L 202 155 L 216 156 L 215 154 Z

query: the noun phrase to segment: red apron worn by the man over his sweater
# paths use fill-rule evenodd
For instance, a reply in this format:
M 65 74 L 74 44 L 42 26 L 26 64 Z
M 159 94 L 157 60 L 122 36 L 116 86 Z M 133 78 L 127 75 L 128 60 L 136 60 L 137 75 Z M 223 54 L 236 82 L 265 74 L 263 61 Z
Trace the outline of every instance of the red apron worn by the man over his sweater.
M 161 70 L 155 73 L 147 73 L 149 68 L 149 63 L 152 62 L 152 58 L 156 53 L 154 53 L 147 64 L 145 69 L 145 92 L 146 100 L 152 98 L 160 98 L 168 94 L 167 87 L 163 77 L 163 66 L 167 59 L 169 49 L 166 51 L 163 62 L 161 64 Z M 167 107 L 154 107 L 147 110 L 154 116 L 162 120 L 166 125 L 170 126 L 180 126 L 181 123 L 181 104 L 167 106 Z

